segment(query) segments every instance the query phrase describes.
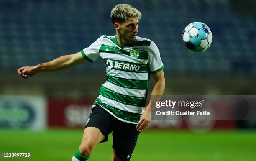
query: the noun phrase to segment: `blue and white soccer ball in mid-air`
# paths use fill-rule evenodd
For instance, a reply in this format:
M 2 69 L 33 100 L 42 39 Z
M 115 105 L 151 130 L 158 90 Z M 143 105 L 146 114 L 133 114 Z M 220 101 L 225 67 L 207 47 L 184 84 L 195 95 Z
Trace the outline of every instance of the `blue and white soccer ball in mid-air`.
M 212 43 L 212 32 L 205 23 L 193 22 L 185 27 L 182 38 L 187 49 L 198 53 L 209 49 Z

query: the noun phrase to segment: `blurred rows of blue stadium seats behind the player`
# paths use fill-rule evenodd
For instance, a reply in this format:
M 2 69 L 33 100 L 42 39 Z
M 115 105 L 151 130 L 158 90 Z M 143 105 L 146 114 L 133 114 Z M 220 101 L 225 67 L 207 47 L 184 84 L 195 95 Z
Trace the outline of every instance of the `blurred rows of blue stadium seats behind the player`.
M 4 63 L 0 67 L 17 68 L 50 61 L 81 51 L 103 34 L 115 34 L 110 10 L 116 0 L 23 0 L 18 6 L 10 5 L 17 0 L 2 3 L 0 9 L 5 15 L 0 14 L 0 57 Z M 234 61 L 241 57 L 256 63 L 255 16 L 234 14 L 228 1 L 121 0 L 119 3 L 129 3 L 141 10 L 138 36 L 157 44 L 167 72 L 235 72 Z M 213 43 L 205 53 L 192 53 L 182 42 L 184 27 L 194 21 L 202 21 L 212 30 Z M 101 63 L 97 61 L 87 67 L 101 70 Z M 255 65 L 247 67 L 256 72 Z

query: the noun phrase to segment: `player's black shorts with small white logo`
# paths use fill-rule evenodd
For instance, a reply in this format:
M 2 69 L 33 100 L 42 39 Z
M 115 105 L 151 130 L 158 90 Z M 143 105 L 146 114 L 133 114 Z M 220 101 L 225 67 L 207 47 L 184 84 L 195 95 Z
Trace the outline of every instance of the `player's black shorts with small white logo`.
M 108 135 L 113 132 L 112 148 L 115 149 L 115 154 L 122 161 L 129 161 L 140 134 L 136 130 L 136 124 L 120 121 L 100 106 L 92 108 L 89 118 L 85 128 L 95 127 L 100 129 L 102 134 L 105 135 L 101 142 L 108 141 Z

